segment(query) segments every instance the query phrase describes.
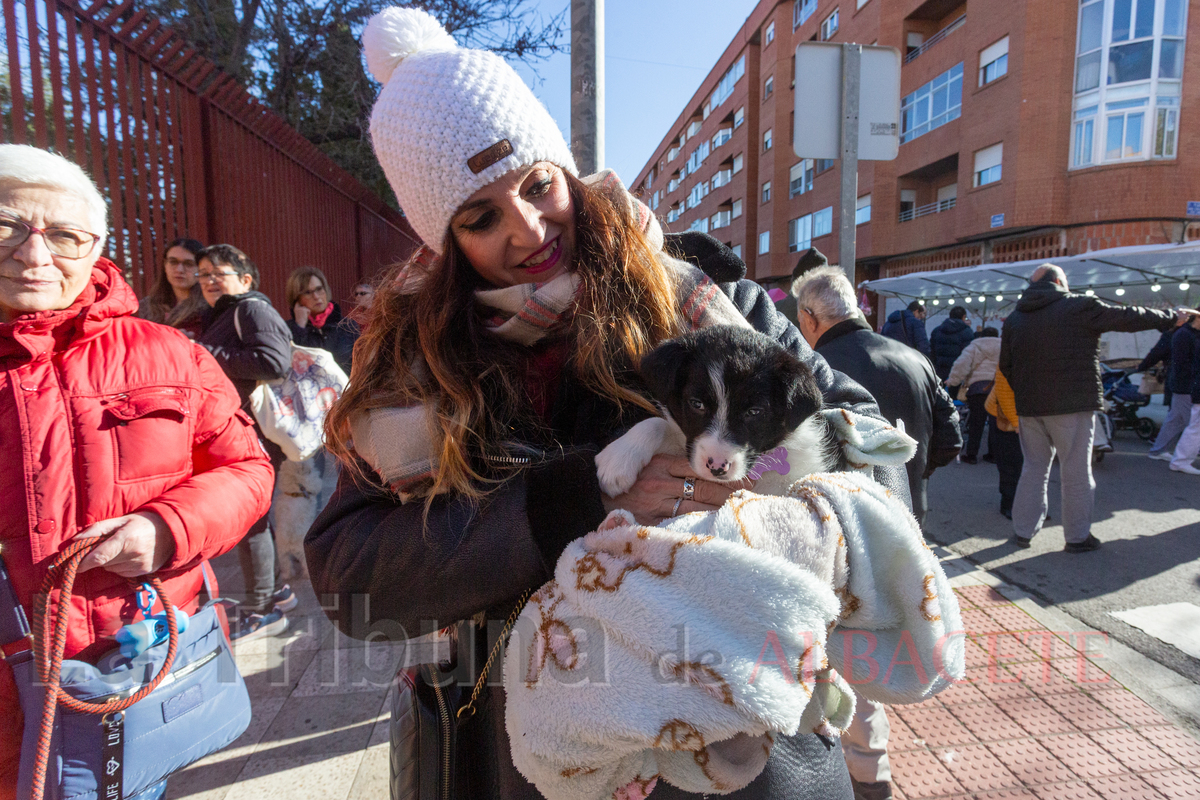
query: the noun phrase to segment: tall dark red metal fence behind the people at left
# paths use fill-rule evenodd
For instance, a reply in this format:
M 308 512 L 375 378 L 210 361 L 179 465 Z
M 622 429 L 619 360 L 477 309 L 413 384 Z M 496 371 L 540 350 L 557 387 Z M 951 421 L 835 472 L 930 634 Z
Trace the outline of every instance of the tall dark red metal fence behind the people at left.
M 132 0 L 0 8 L 0 142 L 92 176 L 109 201 L 106 254 L 139 295 L 176 236 L 246 251 L 280 306 L 298 266 L 322 267 L 346 297 L 419 245 L 402 215 Z

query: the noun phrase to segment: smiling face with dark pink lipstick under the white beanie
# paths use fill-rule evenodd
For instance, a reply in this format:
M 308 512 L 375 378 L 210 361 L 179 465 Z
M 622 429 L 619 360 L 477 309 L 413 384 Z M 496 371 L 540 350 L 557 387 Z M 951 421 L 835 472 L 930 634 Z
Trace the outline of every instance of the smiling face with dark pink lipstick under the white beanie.
M 450 234 L 490 284 L 546 283 L 572 267 L 575 203 L 566 176 L 544 161 L 514 169 L 462 204 Z

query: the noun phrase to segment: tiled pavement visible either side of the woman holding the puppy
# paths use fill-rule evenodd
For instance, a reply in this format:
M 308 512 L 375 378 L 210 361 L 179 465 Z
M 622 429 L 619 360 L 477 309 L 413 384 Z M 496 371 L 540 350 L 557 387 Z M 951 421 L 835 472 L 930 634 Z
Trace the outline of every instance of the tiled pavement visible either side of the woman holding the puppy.
M 239 581 L 224 558 L 228 588 Z M 1036 606 L 988 585 L 991 576 L 947 566 L 962 572 L 952 583 L 970 633 L 967 680 L 888 709 L 896 798 L 1200 799 L 1200 742 L 1105 672 L 1102 637 L 1051 631 Z M 430 650 L 348 639 L 307 585 L 298 589 L 287 634 L 236 649 L 254 703 L 250 729 L 173 777 L 167 796 L 388 796 L 390 678 Z

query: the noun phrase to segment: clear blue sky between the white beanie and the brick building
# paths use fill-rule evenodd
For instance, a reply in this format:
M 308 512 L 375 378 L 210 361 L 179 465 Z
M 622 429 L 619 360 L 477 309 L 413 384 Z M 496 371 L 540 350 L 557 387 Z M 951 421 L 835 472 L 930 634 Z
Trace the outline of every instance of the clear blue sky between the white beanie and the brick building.
M 551 16 L 566 8 L 569 0 L 536 5 Z M 605 166 L 623 181 L 637 176 L 756 5 L 757 0 L 605 0 Z M 534 70 L 514 66 L 569 142 L 570 55 L 554 55 Z

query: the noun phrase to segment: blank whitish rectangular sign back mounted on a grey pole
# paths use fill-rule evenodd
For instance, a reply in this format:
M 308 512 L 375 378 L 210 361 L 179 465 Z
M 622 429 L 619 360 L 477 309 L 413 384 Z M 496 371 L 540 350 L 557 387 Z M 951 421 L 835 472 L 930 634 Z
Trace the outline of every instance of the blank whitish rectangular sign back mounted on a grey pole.
M 863 46 L 858 92 L 858 158 L 892 161 L 900 154 L 900 50 Z M 841 157 L 841 44 L 796 48 L 796 137 L 800 158 Z

